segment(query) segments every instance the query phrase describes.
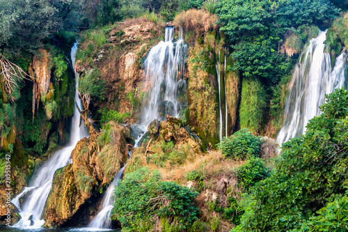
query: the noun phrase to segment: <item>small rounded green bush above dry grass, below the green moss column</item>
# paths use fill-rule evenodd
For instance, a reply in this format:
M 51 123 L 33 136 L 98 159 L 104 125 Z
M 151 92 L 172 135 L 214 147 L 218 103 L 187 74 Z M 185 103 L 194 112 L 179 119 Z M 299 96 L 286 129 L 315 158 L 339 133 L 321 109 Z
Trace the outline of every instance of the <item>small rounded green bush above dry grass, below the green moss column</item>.
M 248 129 L 242 129 L 228 138 L 223 138 L 218 145 L 225 157 L 245 160 L 260 156 L 261 141 Z

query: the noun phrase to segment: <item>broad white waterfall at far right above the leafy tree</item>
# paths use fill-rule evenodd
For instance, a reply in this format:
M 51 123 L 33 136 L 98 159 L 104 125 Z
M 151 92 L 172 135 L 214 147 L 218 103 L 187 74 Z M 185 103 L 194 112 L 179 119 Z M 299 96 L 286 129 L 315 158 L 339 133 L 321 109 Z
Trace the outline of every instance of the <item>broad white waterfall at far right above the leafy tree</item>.
M 277 137 L 279 144 L 303 134 L 308 121 L 321 114 L 319 106 L 324 103 L 325 94 L 345 84 L 345 53 L 338 56 L 332 68 L 331 56 L 324 51 L 325 40 L 326 31 L 320 31 L 296 65 L 285 100 L 283 127 Z

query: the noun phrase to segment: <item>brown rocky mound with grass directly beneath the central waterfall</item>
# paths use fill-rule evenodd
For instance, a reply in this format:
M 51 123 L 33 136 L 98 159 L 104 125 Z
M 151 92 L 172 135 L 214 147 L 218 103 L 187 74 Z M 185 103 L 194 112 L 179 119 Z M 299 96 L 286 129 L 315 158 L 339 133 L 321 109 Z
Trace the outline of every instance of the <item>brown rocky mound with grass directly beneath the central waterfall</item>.
M 152 121 L 148 130 L 139 141 L 139 148 L 132 151 L 125 173 L 145 166 L 172 169 L 192 161 L 206 149 L 197 135 L 183 127 L 178 118 L 167 115 L 166 121 Z

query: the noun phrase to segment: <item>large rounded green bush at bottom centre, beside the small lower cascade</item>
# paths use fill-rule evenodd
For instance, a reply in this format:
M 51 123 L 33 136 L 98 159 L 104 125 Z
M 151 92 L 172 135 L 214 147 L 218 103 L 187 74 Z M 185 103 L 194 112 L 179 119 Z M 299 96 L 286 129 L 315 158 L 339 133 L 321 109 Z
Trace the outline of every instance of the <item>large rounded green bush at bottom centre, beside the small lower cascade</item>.
M 113 217 L 122 224 L 122 231 L 143 231 L 144 225 L 149 229 L 156 218 L 166 218 L 169 225 L 178 223 L 184 229 L 198 219 L 199 209 L 194 203 L 198 193 L 162 182 L 157 171 L 142 168 L 127 173 L 114 193 Z

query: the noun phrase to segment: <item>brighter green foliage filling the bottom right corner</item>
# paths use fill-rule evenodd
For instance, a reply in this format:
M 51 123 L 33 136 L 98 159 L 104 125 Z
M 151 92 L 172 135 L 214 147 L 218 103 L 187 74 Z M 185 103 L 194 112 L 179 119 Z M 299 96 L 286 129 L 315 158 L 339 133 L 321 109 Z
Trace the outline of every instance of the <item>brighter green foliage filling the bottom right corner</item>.
M 297 231 L 335 231 L 348 229 L 348 196 L 340 196 L 335 201 L 327 203 Z

